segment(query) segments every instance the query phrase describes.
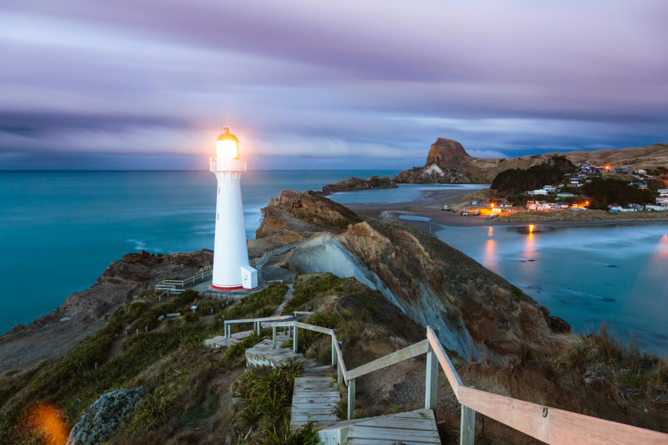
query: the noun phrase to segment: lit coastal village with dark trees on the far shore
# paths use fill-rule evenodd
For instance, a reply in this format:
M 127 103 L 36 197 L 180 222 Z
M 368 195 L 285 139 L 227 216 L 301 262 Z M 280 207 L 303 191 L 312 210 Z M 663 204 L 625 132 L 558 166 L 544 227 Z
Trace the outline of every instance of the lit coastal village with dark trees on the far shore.
M 591 197 L 587 195 L 587 184 L 596 179 L 615 179 L 627 181 L 630 190 L 647 191 L 645 202 L 615 202 L 607 204 L 608 213 L 668 211 L 668 181 L 648 174 L 646 170 L 632 171 L 627 167 L 612 165 L 592 165 L 581 161 L 576 170 L 564 175 L 558 184 L 548 184 L 541 188 L 528 190 L 518 195 L 507 195 L 502 199 L 484 200 L 472 197 L 468 204 L 451 207 L 445 204 L 444 211 L 459 211 L 461 216 L 484 216 L 493 219 L 509 213 L 552 212 L 567 209 L 586 211 L 591 207 Z M 472 194 L 472 195 L 475 195 Z

